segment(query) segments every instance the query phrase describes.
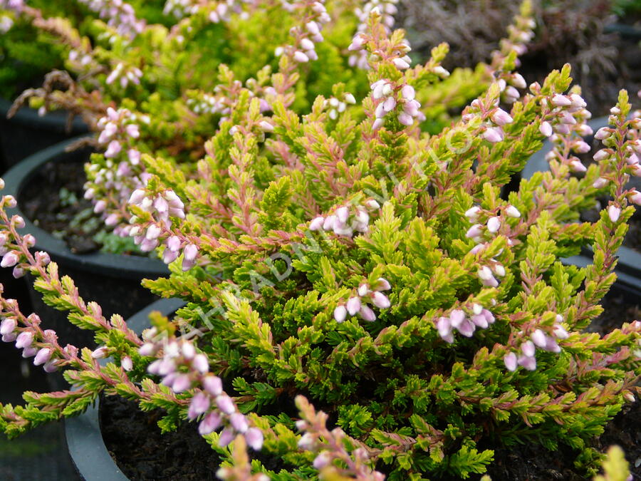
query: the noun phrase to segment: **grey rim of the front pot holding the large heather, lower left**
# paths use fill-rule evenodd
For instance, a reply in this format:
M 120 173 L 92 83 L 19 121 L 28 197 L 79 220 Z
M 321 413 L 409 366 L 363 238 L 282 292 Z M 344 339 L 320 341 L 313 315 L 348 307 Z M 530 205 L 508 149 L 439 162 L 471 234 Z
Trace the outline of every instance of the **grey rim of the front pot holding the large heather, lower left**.
M 127 326 L 136 333 L 141 333 L 149 326 L 151 311 L 160 311 L 169 316 L 182 306 L 184 302 L 180 299 L 161 299 L 127 319 Z M 100 359 L 100 364 L 105 366 L 110 361 Z M 78 417 L 66 419 L 65 433 L 75 468 L 85 481 L 128 479 L 110 456 L 100 434 L 100 400 Z

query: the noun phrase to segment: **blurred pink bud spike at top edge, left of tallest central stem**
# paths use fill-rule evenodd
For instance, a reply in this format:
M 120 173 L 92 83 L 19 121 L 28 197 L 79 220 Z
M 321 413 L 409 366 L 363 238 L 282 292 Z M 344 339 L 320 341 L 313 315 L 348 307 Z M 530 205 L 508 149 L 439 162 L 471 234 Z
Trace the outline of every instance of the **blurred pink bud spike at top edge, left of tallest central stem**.
M 316 43 L 323 41 L 323 25 L 331 21 L 325 9 L 325 0 L 305 0 L 298 2 L 296 8 L 303 10 L 304 25 L 293 26 L 289 33 L 294 37 L 293 44 L 276 48 L 276 56 L 287 55 L 298 63 L 318 60 Z

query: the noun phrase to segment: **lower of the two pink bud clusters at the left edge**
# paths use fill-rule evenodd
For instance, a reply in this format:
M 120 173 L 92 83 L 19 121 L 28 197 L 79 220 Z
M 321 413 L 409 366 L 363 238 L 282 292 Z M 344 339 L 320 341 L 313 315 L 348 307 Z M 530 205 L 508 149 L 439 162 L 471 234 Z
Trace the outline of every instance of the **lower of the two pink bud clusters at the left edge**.
M 40 318 L 37 314 L 28 316 L 28 321 L 33 326 L 40 324 Z M 54 356 L 54 350 L 47 347 L 48 343 L 55 343 L 57 336 L 51 329 L 43 331 L 43 347 L 38 347 L 36 342 L 36 330 L 31 327 L 19 328 L 18 322 L 14 317 L 6 317 L 0 323 L 0 335 L 4 342 L 16 343 L 16 348 L 22 349 L 22 357 L 33 357 L 34 366 L 42 366 L 47 373 L 53 373 L 58 369 L 58 359 Z

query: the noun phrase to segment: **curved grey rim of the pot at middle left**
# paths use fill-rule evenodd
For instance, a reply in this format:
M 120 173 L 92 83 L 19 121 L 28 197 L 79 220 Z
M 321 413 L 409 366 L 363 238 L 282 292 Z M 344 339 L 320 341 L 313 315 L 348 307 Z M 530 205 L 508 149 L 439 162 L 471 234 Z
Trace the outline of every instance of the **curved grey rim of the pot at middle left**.
M 66 148 L 77 142 L 80 138 L 85 138 L 85 135 L 65 140 L 56 145 L 52 145 L 40 152 L 26 157 L 18 164 L 11 167 L 1 177 L 4 179 L 5 188 L 4 195 L 13 195 L 16 200 L 19 200 L 21 192 L 24 190 L 27 182 L 38 173 L 38 170 L 46 164 L 46 162 L 60 162 L 66 158 Z M 21 234 L 33 234 L 36 237 L 37 250 L 48 252 L 51 259 L 61 266 L 73 266 L 82 271 L 90 273 L 98 272 L 114 277 L 123 277 L 126 279 L 140 279 L 140 276 L 150 276 L 157 278 L 160 276 L 167 276 L 170 273 L 167 265 L 160 261 L 160 259 L 150 259 L 148 257 L 140 256 L 125 256 L 121 254 L 105 254 L 103 252 L 93 252 L 90 254 L 74 254 L 67 247 L 66 243 L 61 239 L 56 239 L 45 230 L 37 227 L 27 219 L 22 212 L 20 205 L 13 209 L 7 209 L 9 216 L 18 214 L 24 219 L 25 227 L 19 229 Z

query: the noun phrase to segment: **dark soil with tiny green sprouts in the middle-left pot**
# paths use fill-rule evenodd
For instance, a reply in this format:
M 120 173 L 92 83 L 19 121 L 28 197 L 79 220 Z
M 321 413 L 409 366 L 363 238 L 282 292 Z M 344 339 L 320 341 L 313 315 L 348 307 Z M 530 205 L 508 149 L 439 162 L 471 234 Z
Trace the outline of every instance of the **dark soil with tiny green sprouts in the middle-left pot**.
M 140 255 L 132 239 L 105 231 L 93 205 L 83 197 L 86 180 L 83 162 L 48 162 L 21 193 L 24 214 L 36 226 L 63 239 L 75 254 L 102 249 Z

